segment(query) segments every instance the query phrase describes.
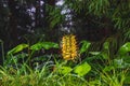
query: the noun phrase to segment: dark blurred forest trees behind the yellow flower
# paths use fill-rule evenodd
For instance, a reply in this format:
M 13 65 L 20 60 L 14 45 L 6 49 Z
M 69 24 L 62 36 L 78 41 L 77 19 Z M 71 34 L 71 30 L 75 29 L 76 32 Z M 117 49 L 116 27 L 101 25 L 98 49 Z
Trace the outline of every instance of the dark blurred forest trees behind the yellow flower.
M 8 51 L 75 33 L 94 49 L 106 39 L 118 49 L 130 38 L 129 14 L 129 0 L 0 0 L 0 39 Z

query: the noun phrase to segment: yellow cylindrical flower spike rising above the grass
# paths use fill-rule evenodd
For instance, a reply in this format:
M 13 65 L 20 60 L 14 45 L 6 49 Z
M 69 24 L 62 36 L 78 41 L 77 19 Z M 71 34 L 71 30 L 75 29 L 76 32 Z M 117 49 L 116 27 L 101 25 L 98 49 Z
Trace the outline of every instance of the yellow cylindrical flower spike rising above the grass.
M 67 34 L 62 38 L 62 56 L 65 60 L 74 60 L 78 56 L 76 35 Z

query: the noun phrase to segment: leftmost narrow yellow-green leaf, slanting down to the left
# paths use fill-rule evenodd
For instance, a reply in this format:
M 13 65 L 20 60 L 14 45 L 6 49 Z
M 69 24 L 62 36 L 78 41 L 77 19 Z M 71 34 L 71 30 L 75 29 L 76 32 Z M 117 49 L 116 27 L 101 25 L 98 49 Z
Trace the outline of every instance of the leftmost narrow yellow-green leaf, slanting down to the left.
M 20 44 L 17 46 L 15 46 L 13 49 L 9 51 L 8 55 L 22 52 L 24 48 L 27 48 L 27 47 L 28 47 L 28 44 Z

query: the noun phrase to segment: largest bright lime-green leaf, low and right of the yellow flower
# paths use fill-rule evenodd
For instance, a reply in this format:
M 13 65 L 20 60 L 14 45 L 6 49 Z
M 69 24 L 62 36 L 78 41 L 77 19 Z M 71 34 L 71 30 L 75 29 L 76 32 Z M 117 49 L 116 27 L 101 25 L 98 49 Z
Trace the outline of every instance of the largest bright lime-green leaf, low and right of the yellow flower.
M 86 75 L 91 70 L 91 66 L 87 62 L 83 62 L 79 66 L 77 66 L 74 69 L 74 72 L 77 73 L 79 76 Z

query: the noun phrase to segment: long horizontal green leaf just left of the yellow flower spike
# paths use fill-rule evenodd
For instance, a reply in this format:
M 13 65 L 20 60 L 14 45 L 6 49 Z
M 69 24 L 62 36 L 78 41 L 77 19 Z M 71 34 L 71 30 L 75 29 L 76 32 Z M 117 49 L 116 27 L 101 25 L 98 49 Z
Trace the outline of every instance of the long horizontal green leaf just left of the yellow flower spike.
M 44 49 L 58 48 L 58 44 L 53 42 L 39 42 L 30 46 L 30 49 L 32 51 L 39 51 L 41 48 Z

